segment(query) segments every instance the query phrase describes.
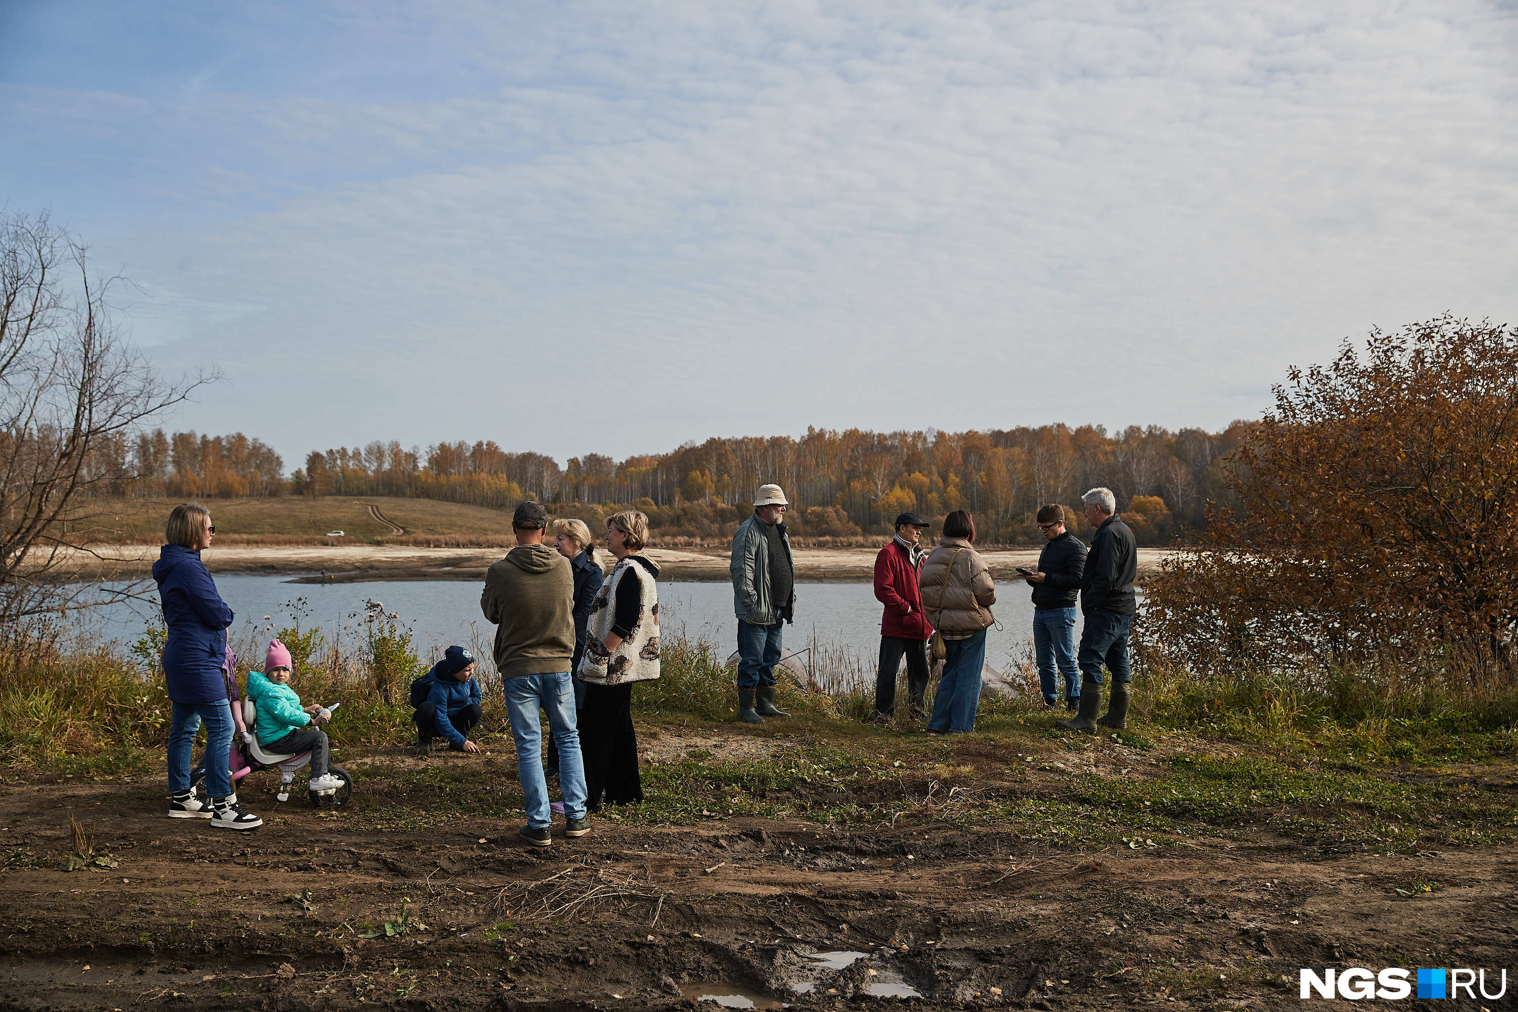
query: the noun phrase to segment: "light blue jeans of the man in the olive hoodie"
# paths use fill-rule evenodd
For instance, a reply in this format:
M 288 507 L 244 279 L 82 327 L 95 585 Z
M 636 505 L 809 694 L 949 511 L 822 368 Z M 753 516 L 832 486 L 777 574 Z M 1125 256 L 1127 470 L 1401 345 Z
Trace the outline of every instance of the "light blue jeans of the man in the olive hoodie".
M 516 675 L 504 686 L 505 712 L 516 740 L 516 778 L 527 800 L 527 824 L 534 830 L 553 825 L 548 780 L 543 778 L 543 728 L 537 712 L 548 713 L 548 730 L 559 750 L 559 787 L 565 794 L 565 818 L 584 818 L 584 760 L 574 722 L 574 678 L 568 671 L 551 675 Z

